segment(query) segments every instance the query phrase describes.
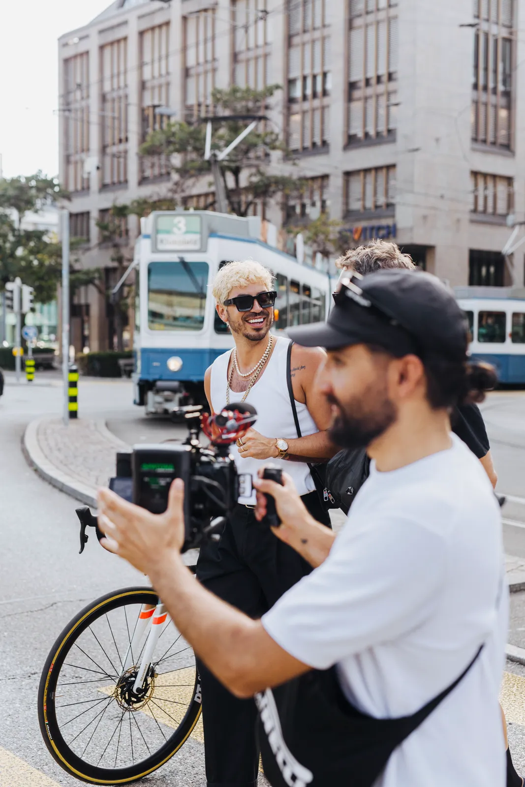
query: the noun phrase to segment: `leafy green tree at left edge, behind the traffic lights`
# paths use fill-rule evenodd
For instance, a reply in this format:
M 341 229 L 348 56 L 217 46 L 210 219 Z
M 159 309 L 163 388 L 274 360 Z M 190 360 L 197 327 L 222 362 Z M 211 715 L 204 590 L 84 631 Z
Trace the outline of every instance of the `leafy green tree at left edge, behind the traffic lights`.
M 61 271 L 61 246 L 46 230 L 23 228 L 28 212 L 39 212 L 68 198 L 57 178 L 42 172 L 0 180 L 0 289 L 20 276 L 35 288 L 35 301 L 56 296 Z

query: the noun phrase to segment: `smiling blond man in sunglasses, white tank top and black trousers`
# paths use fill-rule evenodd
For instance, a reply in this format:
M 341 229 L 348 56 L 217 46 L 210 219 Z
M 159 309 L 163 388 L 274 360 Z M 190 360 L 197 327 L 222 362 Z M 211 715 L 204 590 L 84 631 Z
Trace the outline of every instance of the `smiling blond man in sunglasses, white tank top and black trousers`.
M 325 431 L 331 422 L 330 405 L 313 386 L 325 354 L 319 348 L 290 347 L 287 338 L 270 332 L 275 296 L 272 273 L 253 260 L 227 263 L 217 273 L 216 310 L 235 348 L 206 371 L 206 398 L 212 412 L 238 401 L 256 408 L 256 428 L 232 446 L 238 471 L 257 479 L 268 460 L 286 468 L 312 515 L 329 525 L 308 465 L 337 450 Z M 287 384 L 288 364 L 300 438 Z M 268 611 L 311 571 L 298 552 L 257 522 L 255 503 L 254 491 L 239 498 L 219 543 L 205 545 L 197 565 L 198 579 L 206 588 L 252 618 Z M 199 670 L 208 785 L 253 787 L 259 766 L 255 703 L 233 696 L 204 664 L 199 663 Z

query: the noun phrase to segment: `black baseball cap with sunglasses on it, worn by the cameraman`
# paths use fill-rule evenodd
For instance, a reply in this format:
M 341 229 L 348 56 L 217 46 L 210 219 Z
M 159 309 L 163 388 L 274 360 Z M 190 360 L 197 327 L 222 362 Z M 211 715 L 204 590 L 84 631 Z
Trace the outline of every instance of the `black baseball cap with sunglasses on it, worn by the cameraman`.
M 326 323 L 290 328 L 305 347 L 379 345 L 396 357 L 437 354 L 465 360 L 468 323 L 453 294 L 430 273 L 392 268 L 349 272 L 334 294 Z

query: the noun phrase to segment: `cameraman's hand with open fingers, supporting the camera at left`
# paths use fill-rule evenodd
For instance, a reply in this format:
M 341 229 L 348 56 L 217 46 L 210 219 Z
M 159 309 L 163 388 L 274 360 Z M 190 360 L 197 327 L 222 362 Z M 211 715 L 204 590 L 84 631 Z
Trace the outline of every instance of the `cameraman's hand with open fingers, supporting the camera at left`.
M 178 555 L 182 549 L 183 501 L 184 484 L 180 478 L 172 482 L 164 514 L 152 514 L 109 490 L 98 490 L 98 527 L 106 537 L 102 546 L 151 575 L 168 554 Z

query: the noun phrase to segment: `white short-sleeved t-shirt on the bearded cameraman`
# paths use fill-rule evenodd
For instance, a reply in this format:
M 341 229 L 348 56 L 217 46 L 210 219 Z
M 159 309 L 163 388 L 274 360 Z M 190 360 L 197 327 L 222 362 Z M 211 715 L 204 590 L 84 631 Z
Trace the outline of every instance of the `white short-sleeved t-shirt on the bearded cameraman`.
M 485 643 L 394 751 L 381 787 L 505 785 L 501 515 L 479 460 L 451 437 L 451 449 L 399 470 L 372 462 L 327 560 L 262 619 L 295 658 L 316 669 L 337 663 L 349 701 L 375 718 L 422 708 Z

